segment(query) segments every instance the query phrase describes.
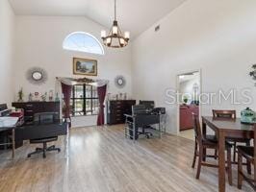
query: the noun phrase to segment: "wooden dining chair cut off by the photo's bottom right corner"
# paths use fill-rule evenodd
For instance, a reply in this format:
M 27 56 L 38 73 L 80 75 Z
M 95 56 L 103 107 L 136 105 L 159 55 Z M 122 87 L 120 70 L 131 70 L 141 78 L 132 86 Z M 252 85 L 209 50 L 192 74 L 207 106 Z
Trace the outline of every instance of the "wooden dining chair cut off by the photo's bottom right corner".
M 254 146 L 238 146 L 238 188 L 242 189 L 243 180 L 256 191 L 256 124 L 254 124 Z M 243 157 L 254 166 L 254 176 L 248 177 L 243 174 Z

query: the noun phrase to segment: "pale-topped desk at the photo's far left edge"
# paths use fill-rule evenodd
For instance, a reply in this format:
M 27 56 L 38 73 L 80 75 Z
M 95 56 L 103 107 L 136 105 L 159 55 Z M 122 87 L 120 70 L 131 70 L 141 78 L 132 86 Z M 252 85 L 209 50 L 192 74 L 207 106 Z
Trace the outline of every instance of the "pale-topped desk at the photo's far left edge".
M 13 145 L 13 154 L 15 156 L 15 129 L 18 122 L 18 117 L 0 117 L 0 132 L 12 131 L 12 143 L 1 143 L 0 145 Z

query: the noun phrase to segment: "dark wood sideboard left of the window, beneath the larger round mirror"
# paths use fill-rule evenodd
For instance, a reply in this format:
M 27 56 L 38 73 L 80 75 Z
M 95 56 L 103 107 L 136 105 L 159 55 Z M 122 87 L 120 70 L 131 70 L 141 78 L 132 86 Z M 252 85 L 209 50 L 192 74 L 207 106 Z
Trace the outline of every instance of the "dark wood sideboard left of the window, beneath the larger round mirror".
M 14 108 L 24 109 L 25 124 L 32 124 L 34 114 L 38 112 L 58 112 L 60 114 L 60 102 L 16 102 Z

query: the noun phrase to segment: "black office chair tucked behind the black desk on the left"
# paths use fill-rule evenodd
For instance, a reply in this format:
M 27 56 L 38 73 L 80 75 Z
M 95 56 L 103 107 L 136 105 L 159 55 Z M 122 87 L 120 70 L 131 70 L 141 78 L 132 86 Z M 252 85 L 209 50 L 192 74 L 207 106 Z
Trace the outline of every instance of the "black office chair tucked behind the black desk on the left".
M 42 112 L 42 113 L 36 113 L 34 116 L 34 125 L 47 125 L 52 124 L 54 122 L 60 121 L 59 113 L 56 112 Z M 60 148 L 56 148 L 55 145 L 52 145 L 50 147 L 47 147 L 47 143 L 57 141 L 58 136 L 53 137 L 47 137 L 47 138 L 38 138 L 38 139 L 31 139 L 31 144 L 39 144 L 42 143 L 42 148 L 36 148 L 36 151 L 33 153 L 28 154 L 28 157 L 31 157 L 32 155 L 40 154 L 42 153 L 42 157 L 46 157 L 46 152 L 50 151 L 58 151 L 58 153 L 61 152 Z

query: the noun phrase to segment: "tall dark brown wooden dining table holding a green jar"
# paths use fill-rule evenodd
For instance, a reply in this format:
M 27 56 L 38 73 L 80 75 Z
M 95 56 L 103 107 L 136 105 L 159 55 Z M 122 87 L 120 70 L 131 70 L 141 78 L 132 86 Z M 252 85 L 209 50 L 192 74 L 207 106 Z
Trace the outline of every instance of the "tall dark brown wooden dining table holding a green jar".
M 202 134 L 207 134 L 207 128 L 216 132 L 218 138 L 218 191 L 225 192 L 225 141 L 226 137 L 253 138 L 253 125 L 241 123 L 240 118 L 224 119 L 202 116 Z M 206 155 L 206 151 L 204 151 Z

